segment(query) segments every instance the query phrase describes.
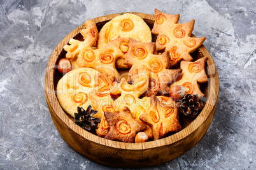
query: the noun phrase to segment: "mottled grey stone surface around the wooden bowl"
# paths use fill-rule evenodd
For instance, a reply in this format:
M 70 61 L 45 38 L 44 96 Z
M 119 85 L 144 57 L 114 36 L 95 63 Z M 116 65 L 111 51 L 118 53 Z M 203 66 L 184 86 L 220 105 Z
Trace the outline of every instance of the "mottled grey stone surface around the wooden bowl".
M 256 169 L 256 3 L 206 0 L 1 0 L 0 169 L 112 169 L 76 153 L 62 139 L 44 92 L 53 49 L 85 20 L 137 11 L 180 13 L 215 60 L 220 95 L 201 141 L 166 164 L 146 169 Z

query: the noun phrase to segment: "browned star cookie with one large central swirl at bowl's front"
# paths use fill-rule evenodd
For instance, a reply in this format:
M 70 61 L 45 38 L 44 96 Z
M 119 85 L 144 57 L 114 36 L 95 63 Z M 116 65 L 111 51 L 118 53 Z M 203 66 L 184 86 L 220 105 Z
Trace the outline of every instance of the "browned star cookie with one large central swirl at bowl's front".
M 104 115 L 110 125 L 110 131 L 104 137 L 105 139 L 134 143 L 136 134 L 146 129 L 145 124 L 132 117 L 127 107 L 119 113 L 105 111 Z

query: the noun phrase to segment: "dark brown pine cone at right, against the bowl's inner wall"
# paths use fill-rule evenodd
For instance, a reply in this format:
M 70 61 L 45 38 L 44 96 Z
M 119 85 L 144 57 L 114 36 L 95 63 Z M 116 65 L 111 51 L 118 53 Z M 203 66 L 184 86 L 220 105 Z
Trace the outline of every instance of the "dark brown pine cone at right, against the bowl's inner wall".
M 204 108 L 203 101 L 197 94 L 187 94 L 180 100 L 180 112 L 186 117 L 196 117 Z

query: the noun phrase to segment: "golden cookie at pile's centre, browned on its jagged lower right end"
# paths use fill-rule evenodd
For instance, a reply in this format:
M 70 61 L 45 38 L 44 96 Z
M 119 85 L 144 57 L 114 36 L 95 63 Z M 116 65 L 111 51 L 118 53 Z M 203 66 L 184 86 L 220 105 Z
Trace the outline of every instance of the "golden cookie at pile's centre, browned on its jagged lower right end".
M 181 69 L 167 69 L 169 67 L 169 54 L 160 55 L 154 53 L 154 43 L 142 43 L 135 39 L 129 39 L 129 50 L 125 58 L 125 64 L 131 65 L 128 81 L 136 81 L 141 76 L 148 75 L 149 89 L 146 96 L 151 94 L 166 94 L 169 84 L 178 80 Z M 142 74 L 144 73 L 144 75 Z

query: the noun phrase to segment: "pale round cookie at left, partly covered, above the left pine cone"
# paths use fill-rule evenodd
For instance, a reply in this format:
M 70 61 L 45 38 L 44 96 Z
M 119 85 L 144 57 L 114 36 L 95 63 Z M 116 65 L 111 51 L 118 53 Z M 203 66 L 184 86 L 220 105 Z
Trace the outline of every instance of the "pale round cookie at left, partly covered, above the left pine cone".
M 99 81 L 101 83 L 105 81 L 98 80 L 104 78 L 99 75 L 102 74 L 95 69 L 80 67 L 69 71 L 59 80 L 57 98 L 60 106 L 71 117 L 75 117 L 74 113 L 77 113 L 76 108 L 78 106 L 87 108 L 92 105 L 92 108 L 96 110 L 97 101 L 90 97 L 90 93 L 99 86 Z

